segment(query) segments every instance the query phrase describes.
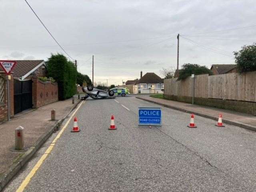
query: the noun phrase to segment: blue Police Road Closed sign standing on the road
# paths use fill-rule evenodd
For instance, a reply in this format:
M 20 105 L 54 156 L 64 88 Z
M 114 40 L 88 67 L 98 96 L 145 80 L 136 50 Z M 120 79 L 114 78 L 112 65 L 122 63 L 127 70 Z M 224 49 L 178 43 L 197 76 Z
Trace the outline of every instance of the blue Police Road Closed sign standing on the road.
M 139 107 L 139 125 L 162 125 L 162 108 Z

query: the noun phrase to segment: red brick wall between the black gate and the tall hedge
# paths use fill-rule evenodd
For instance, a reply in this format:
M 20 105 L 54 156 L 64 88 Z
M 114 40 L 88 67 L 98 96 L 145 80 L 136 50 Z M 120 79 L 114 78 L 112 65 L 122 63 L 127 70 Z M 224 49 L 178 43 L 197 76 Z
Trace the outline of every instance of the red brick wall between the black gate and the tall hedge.
M 32 103 L 33 108 L 58 101 L 58 84 L 50 81 L 42 82 L 32 78 Z

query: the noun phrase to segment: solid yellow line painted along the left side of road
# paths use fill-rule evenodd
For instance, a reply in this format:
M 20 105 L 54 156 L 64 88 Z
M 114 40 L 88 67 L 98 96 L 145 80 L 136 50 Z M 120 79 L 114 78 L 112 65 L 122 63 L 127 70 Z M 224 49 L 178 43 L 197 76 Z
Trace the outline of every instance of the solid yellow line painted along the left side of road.
M 36 165 L 33 167 L 33 169 L 30 171 L 30 173 L 28 174 L 28 176 L 26 176 L 26 178 L 23 180 L 22 184 L 20 184 L 19 188 L 16 190 L 16 192 L 23 192 L 23 190 L 25 189 L 25 187 L 28 185 L 28 183 L 30 182 L 30 179 L 34 176 L 34 174 L 36 173 L 36 171 L 38 170 L 38 168 L 40 168 L 40 166 L 42 165 L 42 163 L 44 162 L 44 160 L 46 159 L 46 157 L 48 156 L 48 154 L 50 154 L 50 152 L 52 151 L 56 141 L 58 140 L 58 138 L 60 138 L 61 134 L 64 132 L 64 130 L 66 129 L 66 127 L 68 126 L 70 120 L 72 119 L 72 117 L 74 116 L 74 114 L 78 111 L 78 109 L 81 107 L 82 104 L 84 104 L 85 101 L 83 101 L 78 108 L 74 111 L 74 113 L 72 114 L 72 116 L 70 116 L 70 118 L 68 119 L 68 121 L 66 122 L 66 124 L 63 126 L 62 130 L 60 130 L 59 134 L 54 138 L 54 140 L 52 141 L 52 143 L 50 144 L 50 146 L 48 147 L 48 149 L 44 152 L 44 154 L 42 155 L 42 157 L 38 160 L 38 162 L 36 163 Z

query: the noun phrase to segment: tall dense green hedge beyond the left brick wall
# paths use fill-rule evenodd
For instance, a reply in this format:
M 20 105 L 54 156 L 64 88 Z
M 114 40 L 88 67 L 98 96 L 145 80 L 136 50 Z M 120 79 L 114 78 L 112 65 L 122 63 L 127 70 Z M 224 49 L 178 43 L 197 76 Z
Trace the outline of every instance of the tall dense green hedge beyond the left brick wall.
M 76 94 L 76 67 L 62 54 L 51 54 L 48 58 L 48 77 L 52 77 L 58 83 L 58 95 L 60 100 L 72 97 Z

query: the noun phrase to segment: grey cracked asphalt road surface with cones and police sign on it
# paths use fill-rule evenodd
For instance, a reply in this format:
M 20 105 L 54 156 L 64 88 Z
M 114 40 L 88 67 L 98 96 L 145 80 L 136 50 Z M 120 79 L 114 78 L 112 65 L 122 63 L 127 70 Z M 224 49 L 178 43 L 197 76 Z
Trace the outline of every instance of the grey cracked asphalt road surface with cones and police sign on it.
M 162 107 L 163 126 L 138 126 L 134 97 L 86 100 L 25 192 L 240 192 L 256 191 L 256 133 Z M 117 130 L 108 130 L 110 116 Z M 15 191 L 54 134 L 4 192 Z

